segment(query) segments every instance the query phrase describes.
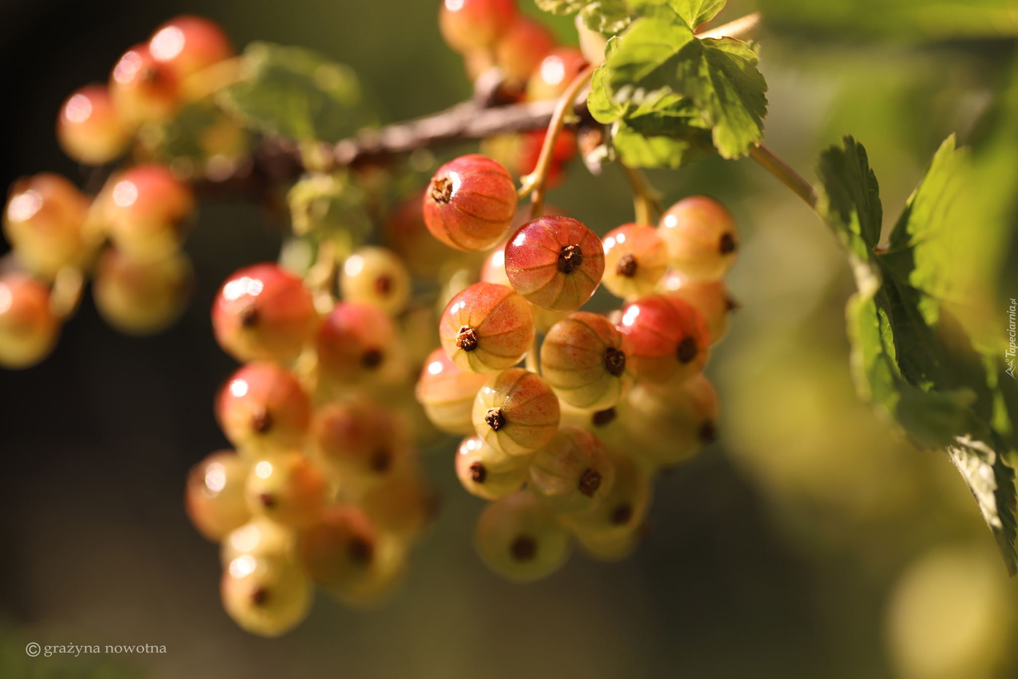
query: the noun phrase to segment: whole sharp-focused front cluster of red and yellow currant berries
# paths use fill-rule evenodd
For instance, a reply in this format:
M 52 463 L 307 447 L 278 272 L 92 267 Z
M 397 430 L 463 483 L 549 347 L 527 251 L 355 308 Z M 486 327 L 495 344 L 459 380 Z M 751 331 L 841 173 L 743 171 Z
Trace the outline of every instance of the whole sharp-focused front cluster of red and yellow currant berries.
M 494 501 L 477 525 L 483 559 L 532 580 L 564 563 L 570 533 L 597 558 L 626 556 L 653 474 L 714 439 L 718 399 L 701 371 L 733 306 L 722 278 L 738 233 L 705 196 L 604 239 L 562 216 L 510 230 L 516 202 L 509 172 L 485 156 L 433 177 L 431 232 L 491 251 L 446 306 L 417 398 L 436 427 L 467 437 L 456 473 Z M 623 306 L 574 310 L 602 283 Z

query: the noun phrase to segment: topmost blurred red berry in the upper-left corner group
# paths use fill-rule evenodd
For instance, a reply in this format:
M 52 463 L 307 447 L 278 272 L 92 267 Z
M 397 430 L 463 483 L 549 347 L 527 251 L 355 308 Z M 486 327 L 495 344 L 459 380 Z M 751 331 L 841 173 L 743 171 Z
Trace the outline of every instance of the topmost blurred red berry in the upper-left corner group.
M 153 59 L 178 81 L 233 56 L 233 46 L 214 21 L 187 14 L 170 19 L 149 39 Z

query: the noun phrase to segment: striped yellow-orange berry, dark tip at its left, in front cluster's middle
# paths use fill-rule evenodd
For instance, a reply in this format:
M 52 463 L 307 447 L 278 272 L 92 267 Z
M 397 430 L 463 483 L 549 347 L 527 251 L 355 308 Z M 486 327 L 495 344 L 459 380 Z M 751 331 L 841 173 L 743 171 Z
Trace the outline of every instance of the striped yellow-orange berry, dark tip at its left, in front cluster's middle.
M 473 401 L 473 429 L 506 455 L 525 455 L 551 441 L 561 417 L 552 386 L 522 367 L 491 378 Z

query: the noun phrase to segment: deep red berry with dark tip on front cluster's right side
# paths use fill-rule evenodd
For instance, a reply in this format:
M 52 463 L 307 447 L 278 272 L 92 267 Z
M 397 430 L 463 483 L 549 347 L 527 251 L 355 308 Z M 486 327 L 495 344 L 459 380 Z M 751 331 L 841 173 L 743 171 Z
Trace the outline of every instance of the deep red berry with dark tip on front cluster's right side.
M 629 302 L 618 328 L 626 365 L 637 380 L 688 380 L 711 354 L 703 316 L 677 297 L 654 294 Z

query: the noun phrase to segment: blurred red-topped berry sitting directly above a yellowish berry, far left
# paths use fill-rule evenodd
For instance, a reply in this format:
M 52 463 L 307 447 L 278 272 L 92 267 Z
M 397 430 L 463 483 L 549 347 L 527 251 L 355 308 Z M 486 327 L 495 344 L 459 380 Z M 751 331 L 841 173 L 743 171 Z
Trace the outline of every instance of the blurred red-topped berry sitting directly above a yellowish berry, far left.
M 106 200 L 110 238 L 134 260 L 175 252 L 184 238 L 184 219 L 194 210 L 190 186 L 167 165 L 135 165 L 117 178 Z

